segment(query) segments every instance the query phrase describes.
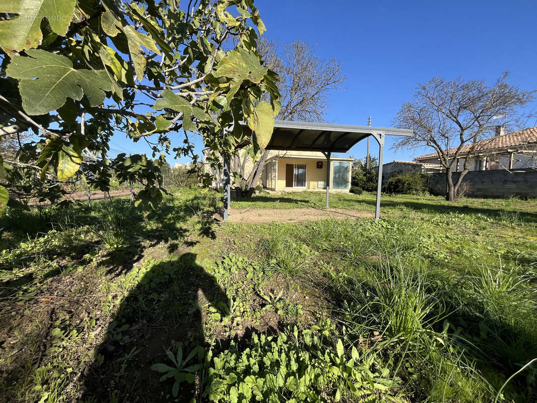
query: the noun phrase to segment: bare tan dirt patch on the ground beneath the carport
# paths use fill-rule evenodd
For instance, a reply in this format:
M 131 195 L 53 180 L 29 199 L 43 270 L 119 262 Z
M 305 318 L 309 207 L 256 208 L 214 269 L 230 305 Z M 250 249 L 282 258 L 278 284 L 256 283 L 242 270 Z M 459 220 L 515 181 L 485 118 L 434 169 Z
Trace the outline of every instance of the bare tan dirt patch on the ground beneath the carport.
M 263 224 L 265 222 L 299 222 L 317 221 L 326 218 L 357 220 L 374 217 L 375 214 L 364 211 L 346 210 L 345 208 L 245 208 L 229 210 L 229 222 Z

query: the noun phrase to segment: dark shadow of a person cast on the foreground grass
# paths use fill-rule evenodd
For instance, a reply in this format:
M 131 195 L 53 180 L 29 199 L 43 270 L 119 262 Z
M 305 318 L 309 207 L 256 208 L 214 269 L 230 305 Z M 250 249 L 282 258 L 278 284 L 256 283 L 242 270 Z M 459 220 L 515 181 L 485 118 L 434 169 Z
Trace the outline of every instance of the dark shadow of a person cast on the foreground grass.
M 185 253 L 153 265 L 121 304 L 112 307 L 113 321 L 84 372 L 83 401 L 190 401 L 194 397 L 196 384 L 185 382 L 175 400 L 173 378 L 159 382 L 162 374 L 151 370 L 151 365 L 174 365 L 165 350 L 175 356 L 182 346 L 186 357 L 195 347 L 204 346 L 201 310 L 207 303 L 221 315 L 229 313 L 226 294 L 196 257 Z M 188 365 L 199 363 L 195 360 Z

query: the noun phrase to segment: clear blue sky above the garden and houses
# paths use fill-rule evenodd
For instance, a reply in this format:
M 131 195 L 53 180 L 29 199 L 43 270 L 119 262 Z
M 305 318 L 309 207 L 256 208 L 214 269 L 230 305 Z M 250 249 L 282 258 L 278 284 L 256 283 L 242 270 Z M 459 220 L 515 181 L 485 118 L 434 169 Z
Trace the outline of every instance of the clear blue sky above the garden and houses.
M 331 94 L 325 116 L 330 123 L 366 125 L 371 116 L 372 126 L 391 126 L 402 103 L 411 100 L 416 83 L 434 76 L 493 83 L 510 71 L 511 84 L 537 89 L 535 0 L 256 0 L 255 4 L 268 39 L 283 43 L 300 39 L 316 45 L 318 56 L 343 62 L 347 79 L 343 90 Z M 133 145 L 118 133 L 111 148 L 149 153 L 145 144 Z M 378 146 L 374 140 L 371 144 L 375 154 Z M 395 152 L 390 145 L 388 136 L 385 162 L 431 152 Z M 199 142 L 197 149 L 200 152 Z M 365 156 L 366 141 L 350 154 Z M 170 163 L 175 161 L 169 158 Z

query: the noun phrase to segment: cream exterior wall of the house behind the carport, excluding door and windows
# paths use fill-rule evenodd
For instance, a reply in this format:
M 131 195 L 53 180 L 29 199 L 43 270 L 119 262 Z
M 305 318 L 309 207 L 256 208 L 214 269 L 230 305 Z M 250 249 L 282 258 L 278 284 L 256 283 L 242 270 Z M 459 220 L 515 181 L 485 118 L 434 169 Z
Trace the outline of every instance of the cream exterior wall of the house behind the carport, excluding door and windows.
M 322 155 L 322 154 L 321 154 Z M 323 168 L 317 168 L 317 161 L 322 161 Z M 349 180 L 345 189 L 333 189 L 333 163 L 349 162 Z M 286 188 L 285 187 L 285 166 L 286 164 L 304 164 L 306 165 L 306 188 Z M 352 161 L 347 159 L 334 159 L 330 161 L 330 191 L 348 192 L 351 189 L 351 165 Z M 326 189 L 324 186 L 318 186 L 319 181 L 326 182 L 326 159 L 301 159 L 301 158 L 279 158 L 278 160 L 269 161 L 265 165 L 265 174 L 263 185 L 270 190 L 321 190 Z M 270 178 L 277 177 L 277 180 L 271 182 Z M 273 183 L 276 187 L 273 186 Z

